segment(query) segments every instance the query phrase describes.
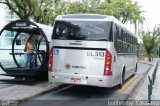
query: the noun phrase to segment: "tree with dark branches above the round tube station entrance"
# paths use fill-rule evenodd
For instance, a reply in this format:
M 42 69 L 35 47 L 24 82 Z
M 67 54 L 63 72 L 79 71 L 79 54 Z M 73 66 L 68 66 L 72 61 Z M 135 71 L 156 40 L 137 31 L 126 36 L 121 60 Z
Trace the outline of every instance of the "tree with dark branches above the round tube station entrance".
M 33 19 L 42 24 L 52 23 L 56 3 L 61 0 L 0 0 L 20 19 Z

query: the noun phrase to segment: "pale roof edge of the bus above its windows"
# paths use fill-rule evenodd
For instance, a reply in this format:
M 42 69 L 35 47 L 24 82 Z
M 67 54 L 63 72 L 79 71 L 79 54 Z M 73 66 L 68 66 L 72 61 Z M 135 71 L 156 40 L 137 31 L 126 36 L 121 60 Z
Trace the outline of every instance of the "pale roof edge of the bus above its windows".
M 127 28 L 124 24 L 118 21 L 114 16 L 101 15 L 101 14 L 67 14 L 59 15 L 56 20 L 65 21 L 65 20 L 74 20 L 74 21 L 110 21 L 121 26 L 126 32 L 130 33 L 132 36 L 136 37 L 133 32 Z

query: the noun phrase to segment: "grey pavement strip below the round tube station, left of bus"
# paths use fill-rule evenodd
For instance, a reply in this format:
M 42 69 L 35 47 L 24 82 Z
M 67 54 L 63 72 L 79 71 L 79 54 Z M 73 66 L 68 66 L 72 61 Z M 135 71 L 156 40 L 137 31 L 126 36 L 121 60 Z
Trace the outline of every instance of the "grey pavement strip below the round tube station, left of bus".
M 0 74 L 5 74 L 5 72 L 0 68 Z M 14 79 L 14 77 L 2 76 L 0 79 Z M 38 82 L 35 84 L 16 84 L 10 87 L 0 89 L 0 106 L 1 101 L 23 101 L 30 97 L 36 96 L 38 94 L 48 92 L 50 90 L 56 90 L 58 87 L 61 87 L 60 84 L 48 83 L 48 81 Z

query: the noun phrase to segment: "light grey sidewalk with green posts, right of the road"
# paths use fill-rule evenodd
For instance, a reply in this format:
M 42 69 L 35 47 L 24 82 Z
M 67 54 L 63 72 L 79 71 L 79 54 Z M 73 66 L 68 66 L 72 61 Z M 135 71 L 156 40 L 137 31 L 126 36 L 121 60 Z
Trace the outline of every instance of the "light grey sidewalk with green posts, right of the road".
M 156 62 L 153 62 L 153 67 L 149 71 L 149 73 L 145 76 L 144 80 L 138 85 L 135 89 L 134 93 L 128 98 L 128 100 L 147 100 L 148 101 L 148 76 L 152 78 L 152 73 L 155 69 Z M 152 100 L 160 100 L 160 65 L 158 64 L 158 69 L 156 73 L 155 83 L 153 85 L 151 101 Z

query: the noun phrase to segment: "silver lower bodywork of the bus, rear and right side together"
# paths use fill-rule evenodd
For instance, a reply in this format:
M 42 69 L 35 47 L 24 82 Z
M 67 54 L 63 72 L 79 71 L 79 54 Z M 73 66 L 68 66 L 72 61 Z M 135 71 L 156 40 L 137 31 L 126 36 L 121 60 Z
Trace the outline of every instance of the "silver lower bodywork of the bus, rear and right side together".
M 64 41 L 62 43 L 60 43 L 60 41 L 58 42 L 62 48 L 60 46 L 59 49 L 54 48 L 55 51 L 59 51 L 59 54 L 55 55 L 53 51 L 53 72 L 49 72 L 49 82 L 91 85 L 98 87 L 113 87 L 121 82 L 124 67 L 126 68 L 125 79 L 129 78 L 135 73 L 137 56 L 117 54 L 116 50 L 114 49 L 113 42 L 106 42 L 104 44 L 106 45 L 106 49 L 108 49 L 112 54 L 112 76 L 103 75 L 105 57 L 96 58 L 94 56 L 87 56 L 87 52 L 104 52 L 106 55 L 105 50 L 74 50 L 68 48 L 65 49 L 67 44 L 64 43 Z M 63 44 L 65 44 L 66 46 L 64 47 Z M 92 49 L 96 48 L 96 46 L 91 45 L 90 47 L 92 47 Z M 78 47 L 76 46 L 76 48 Z M 68 64 L 70 65 L 69 67 L 71 69 L 66 69 Z M 52 76 L 54 76 L 54 78 L 52 78 Z M 82 80 L 82 82 L 72 82 L 72 78 L 78 78 L 78 80 L 80 79 Z

